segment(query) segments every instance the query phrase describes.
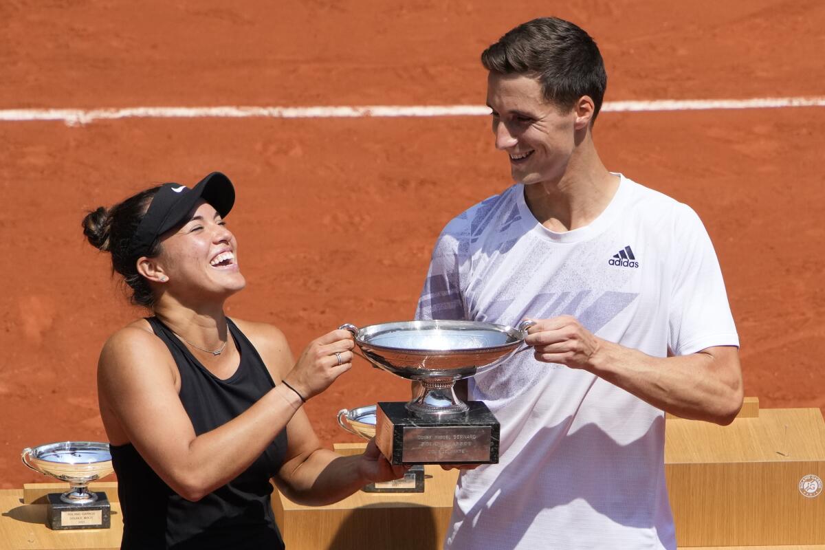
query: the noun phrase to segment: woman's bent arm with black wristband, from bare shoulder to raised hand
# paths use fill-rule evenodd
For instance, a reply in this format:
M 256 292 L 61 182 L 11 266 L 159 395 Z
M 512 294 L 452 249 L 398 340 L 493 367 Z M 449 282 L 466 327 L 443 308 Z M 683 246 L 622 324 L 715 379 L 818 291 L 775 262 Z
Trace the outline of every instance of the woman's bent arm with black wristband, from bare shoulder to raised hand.
M 346 331 L 343 331 L 346 332 Z M 310 345 L 296 365 L 305 396 L 327 388 L 346 368 L 329 368 L 328 351 L 342 346 L 333 331 Z M 277 344 L 274 344 L 277 346 Z M 139 327 L 111 336 L 98 365 L 101 410 L 158 476 L 187 500 L 197 501 L 243 472 L 284 429 L 301 405 L 295 392 L 272 388 L 242 415 L 196 435 L 176 388 L 175 365 L 163 342 Z

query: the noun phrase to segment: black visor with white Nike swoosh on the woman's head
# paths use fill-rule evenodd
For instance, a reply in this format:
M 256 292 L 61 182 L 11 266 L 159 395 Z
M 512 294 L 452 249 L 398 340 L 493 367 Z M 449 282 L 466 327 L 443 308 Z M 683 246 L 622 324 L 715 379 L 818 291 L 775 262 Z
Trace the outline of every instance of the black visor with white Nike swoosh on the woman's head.
M 235 204 L 232 181 L 220 172 L 212 172 L 191 189 L 178 183 L 164 183 L 130 239 L 130 256 L 146 256 L 158 237 L 181 223 L 200 199 L 211 204 L 224 218 Z

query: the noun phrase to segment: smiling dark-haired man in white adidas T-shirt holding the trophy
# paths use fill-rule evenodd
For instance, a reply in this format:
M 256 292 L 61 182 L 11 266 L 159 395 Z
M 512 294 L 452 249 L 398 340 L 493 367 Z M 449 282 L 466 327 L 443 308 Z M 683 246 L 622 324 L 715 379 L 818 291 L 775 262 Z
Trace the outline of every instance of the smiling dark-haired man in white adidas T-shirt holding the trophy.
M 602 164 L 585 31 L 529 21 L 482 63 L 516 185 L 446 226 L 417 317 L 531 318 L 535 354 L 469 380 L 500 462 L 461 472 L 446 548 L 676 548 L 664 411 L 724 425 L 742 405 L 714 249 L 693 210 Z

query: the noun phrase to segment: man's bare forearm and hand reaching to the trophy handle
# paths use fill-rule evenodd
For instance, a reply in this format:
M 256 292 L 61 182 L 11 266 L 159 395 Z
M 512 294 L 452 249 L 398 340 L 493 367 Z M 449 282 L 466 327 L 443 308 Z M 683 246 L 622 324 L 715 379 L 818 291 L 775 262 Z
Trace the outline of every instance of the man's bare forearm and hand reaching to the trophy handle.
M 537 360 L 587 370 L 681 418 L 728 425 L 742 407 L 736 346 L 653 357 L 602 340 L 568 316 L 537 321 L 528 332 L 526 343 L 535 347 Z

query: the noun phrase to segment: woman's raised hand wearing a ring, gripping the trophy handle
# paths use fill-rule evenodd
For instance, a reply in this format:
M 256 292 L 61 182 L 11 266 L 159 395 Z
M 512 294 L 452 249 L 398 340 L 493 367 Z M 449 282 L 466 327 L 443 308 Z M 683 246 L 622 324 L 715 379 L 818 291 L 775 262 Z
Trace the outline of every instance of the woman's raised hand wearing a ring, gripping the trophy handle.
M 304 399 L 318 395 L 352 368 L 354 345 L 350 331 L 328 332 L 309 343 L 284 382 Z

